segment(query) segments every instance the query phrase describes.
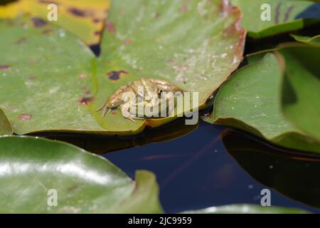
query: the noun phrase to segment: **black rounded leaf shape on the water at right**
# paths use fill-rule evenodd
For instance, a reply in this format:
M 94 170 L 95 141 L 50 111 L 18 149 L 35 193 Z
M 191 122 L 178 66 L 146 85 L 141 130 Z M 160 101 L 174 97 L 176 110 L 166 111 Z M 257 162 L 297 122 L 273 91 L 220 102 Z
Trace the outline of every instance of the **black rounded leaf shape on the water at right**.
M 223 132 L 223 145 L 257 182 L 311 207 L 320 207 L 320 157 L 285 150 L 237 130 Z

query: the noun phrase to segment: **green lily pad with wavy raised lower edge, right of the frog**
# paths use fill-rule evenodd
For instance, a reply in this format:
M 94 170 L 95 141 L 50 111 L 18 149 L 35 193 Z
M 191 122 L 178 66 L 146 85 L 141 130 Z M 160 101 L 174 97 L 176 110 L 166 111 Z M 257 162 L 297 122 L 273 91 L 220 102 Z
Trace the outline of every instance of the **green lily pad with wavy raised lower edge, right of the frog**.
M 282 113 L 283 66 L 279 62 L 284 60 L 267 53 L 261 61 L 237 71 L 218 91 L 213 114 L 205 120 L 246 130 L 284 147 L 320 152 L 320 144 Z

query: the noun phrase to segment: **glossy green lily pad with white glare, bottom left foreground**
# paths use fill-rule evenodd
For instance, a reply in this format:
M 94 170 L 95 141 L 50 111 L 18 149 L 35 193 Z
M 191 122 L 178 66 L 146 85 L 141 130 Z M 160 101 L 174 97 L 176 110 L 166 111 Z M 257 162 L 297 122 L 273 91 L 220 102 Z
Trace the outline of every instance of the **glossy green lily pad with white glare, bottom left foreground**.
M 2 137 L 0 170 L 2 213 L 162 212 L 151 172 L 137 171 L 134 182 L 111 162 L 65 142 Z

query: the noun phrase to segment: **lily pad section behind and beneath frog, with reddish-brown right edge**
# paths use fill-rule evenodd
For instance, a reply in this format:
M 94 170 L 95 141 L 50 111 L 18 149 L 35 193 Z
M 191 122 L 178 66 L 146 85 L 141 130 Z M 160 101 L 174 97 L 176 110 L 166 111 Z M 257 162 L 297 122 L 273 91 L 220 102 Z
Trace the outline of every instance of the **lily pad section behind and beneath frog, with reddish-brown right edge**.
M 113 1 L 97 63 L 92 115 L 110 131 L 136 131 L 172 118 L 124 120 L 97 113 L 114 90 L 139 78 L 157 78 L 199 92 L 203 107 L 242 60 L 245 30 L 228 1 Z

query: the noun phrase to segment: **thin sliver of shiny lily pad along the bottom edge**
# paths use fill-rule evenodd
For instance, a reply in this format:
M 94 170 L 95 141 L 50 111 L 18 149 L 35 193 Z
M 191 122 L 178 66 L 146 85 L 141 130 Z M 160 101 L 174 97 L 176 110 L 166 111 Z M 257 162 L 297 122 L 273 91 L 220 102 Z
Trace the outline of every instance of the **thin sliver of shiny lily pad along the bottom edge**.
M 303 209 L 262 207 L 255 204 L 230 204 L 182 212 L 182 214 L 309 214 Z

